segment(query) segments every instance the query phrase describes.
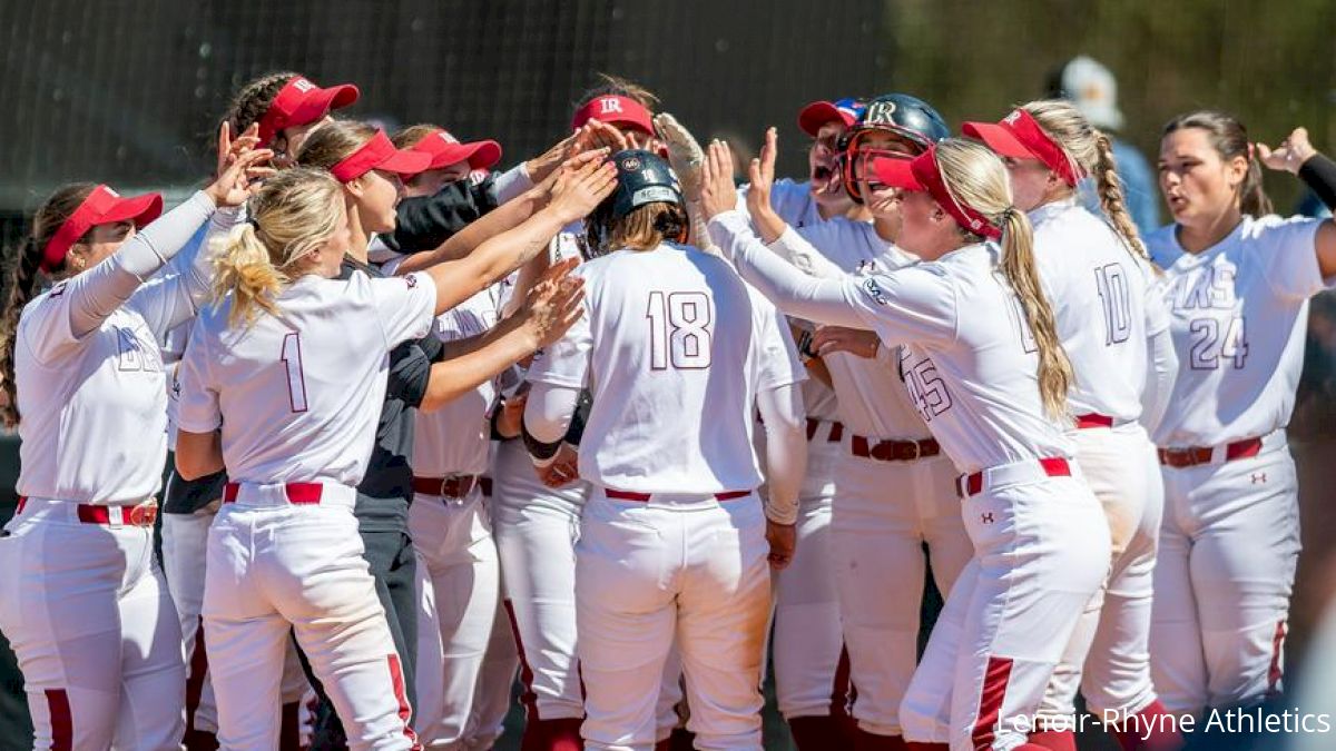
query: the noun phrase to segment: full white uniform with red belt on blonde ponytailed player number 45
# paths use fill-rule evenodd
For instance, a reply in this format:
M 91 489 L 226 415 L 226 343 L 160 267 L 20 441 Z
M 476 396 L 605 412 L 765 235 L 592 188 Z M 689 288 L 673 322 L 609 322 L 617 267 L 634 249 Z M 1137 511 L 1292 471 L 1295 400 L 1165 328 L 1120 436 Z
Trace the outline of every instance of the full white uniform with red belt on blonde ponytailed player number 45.
M 871 327 L 900 345 L 919 416 L 965 476 L 974 559 L 961 572 L 900 706 L 904 739 L 1013 748 L 1109 565 L 1109 533 L 1073 446 L 1043 412 L 1019 303 L 982 243 L 866 278 L 812 279 L 736 212 L 711 238 L 784 313 Z M 986 315 L 967 315 L 983 310 Z

